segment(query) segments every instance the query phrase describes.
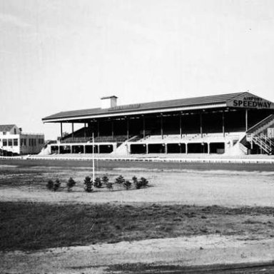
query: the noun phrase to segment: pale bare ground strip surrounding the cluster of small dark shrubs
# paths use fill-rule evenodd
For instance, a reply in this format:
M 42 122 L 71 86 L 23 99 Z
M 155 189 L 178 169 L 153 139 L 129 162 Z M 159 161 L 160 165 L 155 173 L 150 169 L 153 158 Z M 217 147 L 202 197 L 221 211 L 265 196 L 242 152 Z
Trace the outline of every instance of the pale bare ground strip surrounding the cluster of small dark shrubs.
M 138 191 L 120 191 L 106 189 L 91 195 L 83 192 L 83 178 L 91 176 L 91 168 L 73 166 L 64 161 L 13 161 L 0 166 L 1 201 L 41 201 L 49 203 L 182 203 L 190 205 L 224 206 L 274 206 L 274 171 L 234 171 L 208 170 L 206 166 L 195 169 L 156 168 L 155 166 L 124 166 L 124 163 L 102 163 L 96 176 L 107 175 L 114 180 L 118 175 L 131 179 L 144 176 L 151 183 L 151 188 Z M 28 164 L 29 163 L 29 164 Z M 36 163 L 36 166 L 34 165 Z M 46 166 L 44 166 L 44 163 Z M 58 164 L 61 166 L 57 166 Z M 77 165 L 81 164 L 77 163 Z M 43 166 L 41 165 L 43 164 Z M 51 164 L 51 165 L 50 165 Z M 142 163 L 143 164 L 143 163 Z M 69 166 L 71 165 L 71 166 Z M 260 165 L 257 165 L 260 168 Z M 201 167 L 203 169 L 201 169 Z M 234 166 L 232 166 L 234 167 Z M 49 179 L 60 178 L 63 183 L 69 177 L 77 181 L 72 193 L 46 190 Z

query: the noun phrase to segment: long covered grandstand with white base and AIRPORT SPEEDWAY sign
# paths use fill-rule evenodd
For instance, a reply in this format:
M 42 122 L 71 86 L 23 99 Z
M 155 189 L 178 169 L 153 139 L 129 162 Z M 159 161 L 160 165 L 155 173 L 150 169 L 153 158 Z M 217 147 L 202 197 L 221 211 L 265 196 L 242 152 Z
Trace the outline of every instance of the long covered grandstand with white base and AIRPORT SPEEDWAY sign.
M 189 153 L 246 155 L 274 152 L 274 103 L 249 92 L 64 111 L 42 119 L 59 123 L 61 138 L 45 153 L 166 156 Z M 64 123 L 71 133 L 63 136 Z M 74 131 L 74 123 L 83 127 Z M 94 149 L 92 143 L 94 136 Z

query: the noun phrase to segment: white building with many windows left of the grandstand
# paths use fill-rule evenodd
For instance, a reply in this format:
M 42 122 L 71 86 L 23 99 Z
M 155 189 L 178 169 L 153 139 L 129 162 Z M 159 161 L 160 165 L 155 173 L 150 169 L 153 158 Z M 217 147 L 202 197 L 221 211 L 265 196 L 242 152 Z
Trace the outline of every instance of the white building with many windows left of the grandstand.
M 22 133 L 16 125 L 0 125 L 0 153 L 2 155 L 36 154 L 44 146 L 44 134 Z

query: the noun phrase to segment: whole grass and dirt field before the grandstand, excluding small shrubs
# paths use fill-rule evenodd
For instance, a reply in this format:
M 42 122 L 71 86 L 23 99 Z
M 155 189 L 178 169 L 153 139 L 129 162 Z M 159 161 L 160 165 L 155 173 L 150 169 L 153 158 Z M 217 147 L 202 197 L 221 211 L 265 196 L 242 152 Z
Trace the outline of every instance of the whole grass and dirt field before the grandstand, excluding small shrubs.
M 273 165 L 98 161 L 96 176 L 144 176 L 150 187 L 86 193 L 91 174 L 89 161 L 0 161 L 0 272 L 91 273 L 106 260 L 128 270 L 181 264 L 181 254 L 196 264 L 273 259 Z M 56 178 L 59 191 L 46 189 Z

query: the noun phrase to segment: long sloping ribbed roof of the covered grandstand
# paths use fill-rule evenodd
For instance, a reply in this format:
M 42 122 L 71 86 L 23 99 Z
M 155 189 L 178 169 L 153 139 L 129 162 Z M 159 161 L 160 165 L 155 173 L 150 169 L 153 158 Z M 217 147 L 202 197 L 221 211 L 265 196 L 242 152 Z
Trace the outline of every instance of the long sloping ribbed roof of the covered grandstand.
M 162 111 L 183 111 L 184 109 L 201 109 L 201 108 L 215 108 L 215 107 L 229 107 L 231 101 L 235 98 L 255 98 L 257 100 L 264 100 L 252 93 L 227 93 L 222 95 L 201 96 L 195 98 L 183 98 L 168 101 L 156 101 L 150 103 L 134 103 L 129 105 L 115 106 L 112 108 L 89 108 L 76 111 L 62 111 L 42 119 L 44 122 L 58 122 L 71 121 L 85 118 L 99 118 L 108 116 L 123 116 L 143 113 L 156 113 Z M 253 99 L 254 100 L 254 99 Z M 269 102 L 269 101 L 266 101 Z M 271 103 L 271 102 L 270 102 Z M 241 106 L 248 108 L 248 106 Z M 271 108 L 274 104 L 271 103 Z

